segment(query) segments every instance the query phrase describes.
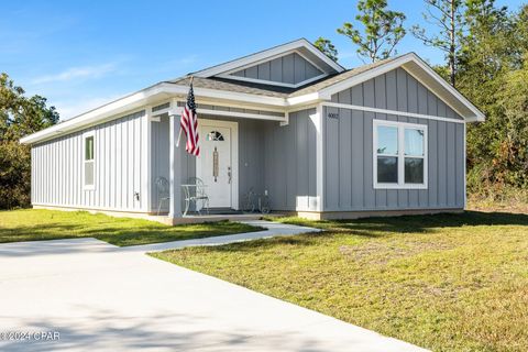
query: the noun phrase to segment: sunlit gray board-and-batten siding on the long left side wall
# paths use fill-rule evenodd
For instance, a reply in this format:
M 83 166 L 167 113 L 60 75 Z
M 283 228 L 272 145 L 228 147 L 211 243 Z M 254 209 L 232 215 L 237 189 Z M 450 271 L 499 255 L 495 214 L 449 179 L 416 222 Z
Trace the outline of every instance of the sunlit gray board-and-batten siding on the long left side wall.
M 37 143 L 31 148 L 35 206 L 142 211 L 144 111 Z M 95 189 L 84 189 L 85 132 L 95 135 Z

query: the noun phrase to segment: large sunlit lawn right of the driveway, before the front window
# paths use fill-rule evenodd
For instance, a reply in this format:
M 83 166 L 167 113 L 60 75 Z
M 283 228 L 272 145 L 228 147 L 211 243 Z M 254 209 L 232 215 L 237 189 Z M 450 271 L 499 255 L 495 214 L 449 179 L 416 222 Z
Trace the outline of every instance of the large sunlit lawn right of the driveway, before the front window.
M 528 216 L 312 222 L 153 256 L 435 351 L 528 351 Z

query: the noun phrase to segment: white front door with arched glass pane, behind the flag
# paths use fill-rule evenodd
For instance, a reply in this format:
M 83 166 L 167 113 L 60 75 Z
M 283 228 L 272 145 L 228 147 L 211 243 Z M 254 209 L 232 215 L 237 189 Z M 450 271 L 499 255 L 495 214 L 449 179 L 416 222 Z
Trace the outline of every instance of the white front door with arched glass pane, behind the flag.
M 231 122 L 198 119 L 200 156 L 196 175 L 204 180 L 210 208 L 233 207 L 233 125 Z

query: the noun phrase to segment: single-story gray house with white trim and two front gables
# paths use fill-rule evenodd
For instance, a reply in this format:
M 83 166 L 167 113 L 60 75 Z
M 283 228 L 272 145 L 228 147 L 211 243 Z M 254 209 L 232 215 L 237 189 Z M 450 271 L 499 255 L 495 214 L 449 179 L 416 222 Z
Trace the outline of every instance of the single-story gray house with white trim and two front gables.
M 301 38 L 193 76 L 198 158 L 175 146 L 189 75 L 23 138 L 33 206 L 155 213 L 163 177 L 178 222 L 199 177 L 226 210 L 250 191 L 312 219 L 464 208 L 465 125 L 484 114 L 414 53 L 345 69 Z

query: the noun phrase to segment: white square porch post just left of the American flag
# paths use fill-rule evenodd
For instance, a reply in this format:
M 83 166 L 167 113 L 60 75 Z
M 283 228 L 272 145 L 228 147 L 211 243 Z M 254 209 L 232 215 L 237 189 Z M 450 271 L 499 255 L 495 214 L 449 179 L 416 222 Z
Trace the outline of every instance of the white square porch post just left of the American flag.
M 170 151 L 169 151 L 169 185 L 170 185 L 170 205 L 168 217 L 169 218 L 180 218 L 182 217 L 182 154 L 178 147 L 176 147 L 176 140 L 179 134 L 179 119 L 180 112 L 175 108 L 172 109 L 169 113 L 169 124 L 170 124 Z

